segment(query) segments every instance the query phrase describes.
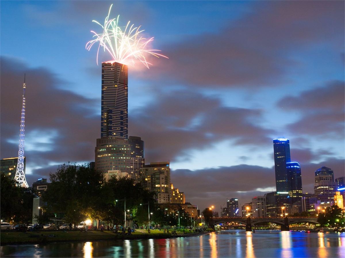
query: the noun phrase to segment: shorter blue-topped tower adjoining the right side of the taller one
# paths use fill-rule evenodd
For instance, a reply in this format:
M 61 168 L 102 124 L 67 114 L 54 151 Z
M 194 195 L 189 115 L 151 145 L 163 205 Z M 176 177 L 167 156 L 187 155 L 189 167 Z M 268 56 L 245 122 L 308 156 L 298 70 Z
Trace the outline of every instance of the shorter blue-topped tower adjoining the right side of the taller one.
M 290 203 L 293 204 L 300 201 L 303 196 L 301 169 L 298 162 L 286 163 L 286 169 L 290 176 L 289 198 Z

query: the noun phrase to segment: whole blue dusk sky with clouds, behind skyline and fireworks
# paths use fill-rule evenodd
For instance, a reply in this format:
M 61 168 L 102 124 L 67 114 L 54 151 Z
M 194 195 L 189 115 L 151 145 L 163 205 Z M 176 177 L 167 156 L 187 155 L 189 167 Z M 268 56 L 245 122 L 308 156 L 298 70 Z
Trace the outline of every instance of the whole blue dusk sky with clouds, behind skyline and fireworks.
M 26 73 L 29 185 L 94 161 L 101 67 L 85 45 L 111 4 L 169 57 L 129 67 L 129 135 L 187 202 L 220 212 L 274 191 L 278 137 L 304 192 L 322 165 L 344 175 L 344 1 L 1 1 L 0 155 L 18 155 Z

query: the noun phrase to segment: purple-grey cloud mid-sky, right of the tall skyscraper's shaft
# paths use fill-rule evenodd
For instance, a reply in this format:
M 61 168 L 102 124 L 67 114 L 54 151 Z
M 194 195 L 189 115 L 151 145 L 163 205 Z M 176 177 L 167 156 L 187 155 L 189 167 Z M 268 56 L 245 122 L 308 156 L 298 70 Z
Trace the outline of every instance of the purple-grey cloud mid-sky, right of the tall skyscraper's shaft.
M 205 150 L 221 141 L 260 148 L 272 130 L 256 125 L 259 110 L 224 107 L 219 99 L 180 90 L 155 98 L 129 114 L 129 133 L 145 141 L 146 160 L 188 159 L 190 150 Z M 255 141 L 255 145 L 253 142 Z

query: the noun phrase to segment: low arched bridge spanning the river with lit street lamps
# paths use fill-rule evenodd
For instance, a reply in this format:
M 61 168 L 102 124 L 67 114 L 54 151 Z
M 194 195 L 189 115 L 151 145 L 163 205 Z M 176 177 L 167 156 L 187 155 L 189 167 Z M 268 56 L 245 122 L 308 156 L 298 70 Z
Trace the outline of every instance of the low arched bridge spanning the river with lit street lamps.
M 237 222 L 246 225 L 246 231 L 252 231 L 252 225 L 262 222 L 272 222 L 280 225 L 281 231 L 288 231 L 289 225 L 308 222 L 318 224 L 317 217 L 223 217 L 223 218 L 210 218 L 208 224 L 214 228 L 215 225 L 226 222 Z

